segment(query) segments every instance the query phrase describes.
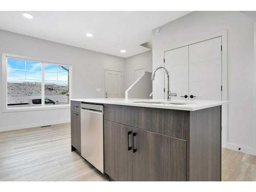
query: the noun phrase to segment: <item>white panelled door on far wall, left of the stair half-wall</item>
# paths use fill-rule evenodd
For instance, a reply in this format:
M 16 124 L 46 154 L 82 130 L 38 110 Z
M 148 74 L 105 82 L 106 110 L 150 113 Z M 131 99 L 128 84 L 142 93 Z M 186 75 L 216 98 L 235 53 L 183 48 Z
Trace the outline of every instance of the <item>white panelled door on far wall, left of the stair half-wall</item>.
M 105 98 L 122 97 L 122 72 L 105 70 Z

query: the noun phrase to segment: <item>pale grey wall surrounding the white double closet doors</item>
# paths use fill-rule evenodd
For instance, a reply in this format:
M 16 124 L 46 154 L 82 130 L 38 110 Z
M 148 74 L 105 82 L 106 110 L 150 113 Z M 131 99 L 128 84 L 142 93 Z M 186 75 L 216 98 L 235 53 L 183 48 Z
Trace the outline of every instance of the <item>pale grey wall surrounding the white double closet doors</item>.
M 253 21 L 241 12 L 192 12 L 153 30 L 153 69 L 163 51 L 227 30 L 228 146 L 253 151 Z M 163 72 L 156 74 L 153 98 L 163 98 Z M 256 108 L 255 108 L 256 109 Z

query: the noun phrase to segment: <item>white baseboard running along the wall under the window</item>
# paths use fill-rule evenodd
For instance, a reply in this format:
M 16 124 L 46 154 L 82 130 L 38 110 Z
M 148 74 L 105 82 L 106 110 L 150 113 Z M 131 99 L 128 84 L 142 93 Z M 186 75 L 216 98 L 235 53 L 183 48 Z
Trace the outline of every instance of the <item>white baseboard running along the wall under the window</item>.
M 29 124 L 23 124 L 23 125 L 6 126 L 6 127 L 1 127 L 0 132 L 27 129 L 31 127 L 46 126 L 46 125 L 52 125 L 52 124 L 69 123 L 69 122 L 70 122 L 70 119 L 64 119 L 64 120 L 48 121 L 48 122 L 42 122 L 42 123 L 29 123 Z

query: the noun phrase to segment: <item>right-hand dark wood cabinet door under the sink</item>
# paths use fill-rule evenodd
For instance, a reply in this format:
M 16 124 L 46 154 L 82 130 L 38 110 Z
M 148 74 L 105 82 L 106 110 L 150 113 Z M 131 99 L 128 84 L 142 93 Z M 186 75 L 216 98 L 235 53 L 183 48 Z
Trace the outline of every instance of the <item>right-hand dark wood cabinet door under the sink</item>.
M 134 181 L 185 181 L 186 141 L 133 129 Z

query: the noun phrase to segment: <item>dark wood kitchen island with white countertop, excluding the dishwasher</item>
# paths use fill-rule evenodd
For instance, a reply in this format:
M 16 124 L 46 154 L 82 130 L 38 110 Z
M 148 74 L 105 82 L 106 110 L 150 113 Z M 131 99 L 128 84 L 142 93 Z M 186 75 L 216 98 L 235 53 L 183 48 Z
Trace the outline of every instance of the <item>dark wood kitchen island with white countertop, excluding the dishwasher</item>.
M 104 172 L 112 180 L 221 181 L 227 101 L 71 99 L 71 147 L 79 154 L 81 103 L 103 105 Z

